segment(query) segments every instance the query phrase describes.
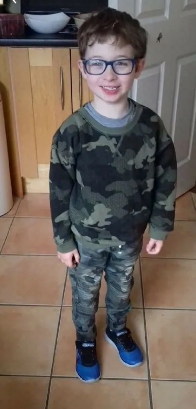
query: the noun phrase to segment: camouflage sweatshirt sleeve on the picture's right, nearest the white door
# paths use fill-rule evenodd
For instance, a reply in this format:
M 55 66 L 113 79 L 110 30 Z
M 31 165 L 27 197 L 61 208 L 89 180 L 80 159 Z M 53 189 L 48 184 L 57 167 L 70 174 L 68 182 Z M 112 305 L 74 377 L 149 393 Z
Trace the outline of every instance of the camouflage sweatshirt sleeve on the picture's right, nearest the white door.
M 174 230 L 177 183 L 177 160 L 172 138 L 159 118 L 153 208 L 149 220 L 149 235 L 165 240 Z

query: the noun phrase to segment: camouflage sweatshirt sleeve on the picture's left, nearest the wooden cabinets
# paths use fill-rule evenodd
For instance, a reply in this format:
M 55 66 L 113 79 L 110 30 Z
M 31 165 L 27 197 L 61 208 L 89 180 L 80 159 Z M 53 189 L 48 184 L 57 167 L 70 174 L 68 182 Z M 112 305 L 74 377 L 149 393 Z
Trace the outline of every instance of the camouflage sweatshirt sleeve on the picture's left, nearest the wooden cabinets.
M 71 191 L 75 181 L 72 134 L 62 125 L 53 136 L 49 173 L 53 237 L 60 253 L 76 248 L 69 216 Z

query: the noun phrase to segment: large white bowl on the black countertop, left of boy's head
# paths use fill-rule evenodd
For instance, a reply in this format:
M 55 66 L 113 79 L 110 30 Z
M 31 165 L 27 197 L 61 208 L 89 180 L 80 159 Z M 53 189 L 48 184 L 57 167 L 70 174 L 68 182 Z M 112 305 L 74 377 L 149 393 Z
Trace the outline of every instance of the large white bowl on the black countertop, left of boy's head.
M 24 20 L 37 33 L 53 34 L 61 31 L 68 24 L 70 17 L 65 13 L 46 15 L 24 14 Z

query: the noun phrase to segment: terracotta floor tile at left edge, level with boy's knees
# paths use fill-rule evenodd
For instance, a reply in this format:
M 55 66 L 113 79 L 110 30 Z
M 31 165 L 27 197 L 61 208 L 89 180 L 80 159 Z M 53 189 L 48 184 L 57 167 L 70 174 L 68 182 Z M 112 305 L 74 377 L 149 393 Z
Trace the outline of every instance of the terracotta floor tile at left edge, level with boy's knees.
M 65 276 L 55 256 L 1 255 L 0 303 L 59 305 Z

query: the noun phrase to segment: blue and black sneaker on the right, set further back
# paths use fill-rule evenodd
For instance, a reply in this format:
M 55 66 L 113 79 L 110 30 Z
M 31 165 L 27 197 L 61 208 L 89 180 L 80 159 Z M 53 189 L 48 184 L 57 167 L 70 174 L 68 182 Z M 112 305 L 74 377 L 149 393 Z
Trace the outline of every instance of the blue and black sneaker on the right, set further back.
M 143 355 L 131 337 L 131 332 L 124 328 L 121 331 L 106 329 L 105 338 L 118 352 L 120 360 L 127 367 L 139 367 L 143 363 Z

